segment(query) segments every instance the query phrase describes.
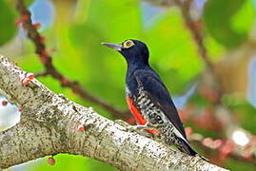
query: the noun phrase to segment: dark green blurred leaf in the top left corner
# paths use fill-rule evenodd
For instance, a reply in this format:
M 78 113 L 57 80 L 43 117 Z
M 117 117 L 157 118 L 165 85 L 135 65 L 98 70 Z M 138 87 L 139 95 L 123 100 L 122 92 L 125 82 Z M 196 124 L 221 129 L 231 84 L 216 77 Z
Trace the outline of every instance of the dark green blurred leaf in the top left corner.
M 4 45 L 15 35 L 16 26 L 14 25 L 15 16 L 8 4 L 0 1 L 0 46 Z

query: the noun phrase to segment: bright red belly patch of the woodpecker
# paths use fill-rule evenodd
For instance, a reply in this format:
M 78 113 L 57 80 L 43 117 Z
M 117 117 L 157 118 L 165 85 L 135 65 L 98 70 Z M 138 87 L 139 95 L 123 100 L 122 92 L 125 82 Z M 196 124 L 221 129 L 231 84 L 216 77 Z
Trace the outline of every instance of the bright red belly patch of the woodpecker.
M 140 123 L 141 125 L 145 125 L 147 121 L 143 118 L 140 111 L 133 105 L 132 100 L 128 96 L 127 96 L 127 102 L 128 102 L 128 108 L 130 109 L 131 113 L 133 114 L 137 122 Z M 155 134 L 154 129 L 147 129 L 147 131 L 153 135 Z

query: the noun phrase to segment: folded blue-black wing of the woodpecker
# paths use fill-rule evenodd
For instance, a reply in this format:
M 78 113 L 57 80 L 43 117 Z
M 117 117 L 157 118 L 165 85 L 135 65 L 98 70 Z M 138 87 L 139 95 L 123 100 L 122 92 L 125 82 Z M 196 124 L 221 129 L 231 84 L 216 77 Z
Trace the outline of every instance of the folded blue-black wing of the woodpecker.
M 143 87 L 151 102 L 159 107 L 167 116 L 167 119 L 187 140 L 187 136 L 180 120 L 179 114 L 173 104 L 167 87 L 162 83 L 160 77 L 153 71 L 136 70 L 134 76 L 139 86 Z

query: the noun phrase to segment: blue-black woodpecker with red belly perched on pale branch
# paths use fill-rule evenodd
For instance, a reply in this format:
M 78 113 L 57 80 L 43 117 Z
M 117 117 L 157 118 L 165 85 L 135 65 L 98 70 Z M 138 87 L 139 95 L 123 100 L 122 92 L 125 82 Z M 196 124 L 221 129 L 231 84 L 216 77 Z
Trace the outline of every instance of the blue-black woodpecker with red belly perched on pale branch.
M 137 123 L 167 145 L 174 145 L 190 156 L 199 155 L 187 141 L 183 123 L 166 85 L 148 64 L 148 47 L 132 39 L 122 44 L 102 44 L 119 51 L 127 61 L 127 103 Z

